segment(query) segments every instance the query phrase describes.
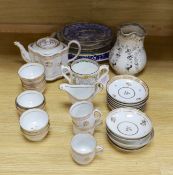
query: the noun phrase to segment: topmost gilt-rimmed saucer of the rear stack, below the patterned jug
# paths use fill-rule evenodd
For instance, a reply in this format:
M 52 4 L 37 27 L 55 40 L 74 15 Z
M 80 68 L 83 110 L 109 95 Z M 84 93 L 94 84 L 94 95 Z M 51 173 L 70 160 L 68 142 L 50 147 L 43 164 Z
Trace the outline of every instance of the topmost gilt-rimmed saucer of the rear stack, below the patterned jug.
M 149 89 L 140 79 L 129 76 L 115 76 L 107 84 L 107 93 L 121 103 L 140 103 L 148 98 Z

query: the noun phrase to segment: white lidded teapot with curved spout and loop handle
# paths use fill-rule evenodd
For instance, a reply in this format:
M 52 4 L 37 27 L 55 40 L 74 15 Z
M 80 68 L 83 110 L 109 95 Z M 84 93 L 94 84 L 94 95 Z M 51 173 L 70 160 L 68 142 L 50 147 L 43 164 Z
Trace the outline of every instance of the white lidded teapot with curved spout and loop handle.
M 72 40 L 68 45 L 65 45 L 51 37 L 41 38 L 29 44 L 29 52 L 27 52 L 19 42 L 16 41 L 14 44 L 19 47 L 22 58 L 26 62 L 37 62 L 44 65 L 47 81 L 53 81 L 62 77 L 61 65 L 67 65 L 69 62 L 68 52 L 71 44 L 76 44 L 78 46 L 78 52 L 70 61 L 75 60 L 81 52 L 81 46 L 78 41 Z

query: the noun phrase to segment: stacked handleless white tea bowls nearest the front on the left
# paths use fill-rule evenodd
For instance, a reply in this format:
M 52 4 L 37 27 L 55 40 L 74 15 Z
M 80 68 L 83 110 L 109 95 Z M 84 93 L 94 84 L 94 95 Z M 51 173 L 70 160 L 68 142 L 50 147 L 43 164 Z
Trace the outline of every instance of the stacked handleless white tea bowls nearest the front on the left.
M 30 141 L 40 141 L 49 132 L 48 114 L 41 109 L 29 109 L 22 113 L 20 128 L 23 135 Z

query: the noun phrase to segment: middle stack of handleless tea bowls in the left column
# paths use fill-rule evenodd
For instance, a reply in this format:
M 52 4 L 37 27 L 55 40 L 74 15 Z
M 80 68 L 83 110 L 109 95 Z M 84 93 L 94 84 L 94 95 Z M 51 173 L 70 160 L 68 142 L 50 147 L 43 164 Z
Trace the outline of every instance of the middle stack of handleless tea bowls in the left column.
M 42 93 L 33 90 L 27 90 L 20 93 L 16 100 L 16 109 L 21 115 L 28 109 L 40 108 L 45 109 L 45 97 Z

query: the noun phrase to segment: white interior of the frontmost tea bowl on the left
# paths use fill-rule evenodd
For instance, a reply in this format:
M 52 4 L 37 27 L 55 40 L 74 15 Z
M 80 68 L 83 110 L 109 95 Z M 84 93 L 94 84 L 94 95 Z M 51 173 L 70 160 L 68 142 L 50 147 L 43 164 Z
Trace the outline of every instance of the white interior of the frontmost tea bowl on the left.
M 30 109 L 20 117 L 22 129 L 32 132 L 44 128 L 48 124 L 48 115 L 41 109 Z

